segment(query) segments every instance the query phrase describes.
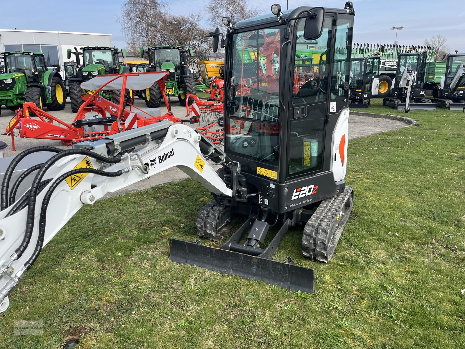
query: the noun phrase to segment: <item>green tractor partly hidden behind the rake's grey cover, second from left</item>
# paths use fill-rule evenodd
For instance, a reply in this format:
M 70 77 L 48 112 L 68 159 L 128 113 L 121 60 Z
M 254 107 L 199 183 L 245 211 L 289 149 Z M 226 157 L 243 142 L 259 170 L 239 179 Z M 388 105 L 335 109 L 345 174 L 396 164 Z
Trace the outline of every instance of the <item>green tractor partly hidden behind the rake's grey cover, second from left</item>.
M 130 67 L 120 64 L 118 54 L 121 52 L 123 58 L 126 58 L 126 50 L 121 51 L 116 47 L 81 47 L 79 52 L 76 47 L 74 51 L 67 50 L 68 60 L 71 54 L 76 56 L 77 70 L 74 76 L 69 76 L 66 85 L 69 90 L 69 99 L 71 100 L 71 110 L 77 113 L 83 103 L 81 93 L 81 82 L 92 79 L 96 75 L 129 73 Z M 110 95 L 104 95 L 111 98 Z

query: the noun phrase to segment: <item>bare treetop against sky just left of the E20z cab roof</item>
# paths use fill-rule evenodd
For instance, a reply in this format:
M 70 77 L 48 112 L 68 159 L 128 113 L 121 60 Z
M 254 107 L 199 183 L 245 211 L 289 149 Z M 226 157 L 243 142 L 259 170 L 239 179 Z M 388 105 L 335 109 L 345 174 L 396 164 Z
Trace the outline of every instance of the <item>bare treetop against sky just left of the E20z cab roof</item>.
M 258 16 L 262 12 L 260 7 L 252 7 L 246 1 L 240 0 L 212 0 L 206 9 L 210 24 L 219 27 L 223 32 L 225 32 L 223 17 L 228 16 L 233 22 L 237 22 Z

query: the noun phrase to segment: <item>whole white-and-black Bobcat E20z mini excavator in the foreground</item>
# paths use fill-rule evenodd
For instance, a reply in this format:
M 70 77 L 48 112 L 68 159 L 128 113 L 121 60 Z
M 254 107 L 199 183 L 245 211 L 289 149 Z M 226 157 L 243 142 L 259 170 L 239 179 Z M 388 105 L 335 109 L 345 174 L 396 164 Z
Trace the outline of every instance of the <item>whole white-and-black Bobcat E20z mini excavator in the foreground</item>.
M 39 146 L 18 154 L 0 192 L 0 312 L 41 249 L 81 206 L 171 167 L 213 195 L 197 217 L 198 235 L 222 240 L 228 223 L 244 218 L 218 248 L 169 239 L 171 261 L 313 292 L 313 269 L 271 257 L 289 228 L 302 227 L 303 255 L 329 262 L 351 213 L 353 189 L 344 178 L 354 14 L 349 1 L 344 9 L 273 5 L 272 15 L 223 19 L 224 151 L 188 125 L 160 121 L 72 149 Z M 216 51 L 219 29 L 211 35 Z M 315 58 L 309 64 L 319 62 L 307 69 L 314 83 L 295 86 L 296 45 L 314 40 L 324 47 L 307 53 Z M 326 59 L 316 59 L 322 55 Z M 56 154 L 13 183 L 21 159 L 40 151 Z M 215 172 L 211 162 L 221 168 Z M 35 170 L 32 186 L 16 198 L 19 182 Z M 266 238 L 272 230 L 274 237 Z

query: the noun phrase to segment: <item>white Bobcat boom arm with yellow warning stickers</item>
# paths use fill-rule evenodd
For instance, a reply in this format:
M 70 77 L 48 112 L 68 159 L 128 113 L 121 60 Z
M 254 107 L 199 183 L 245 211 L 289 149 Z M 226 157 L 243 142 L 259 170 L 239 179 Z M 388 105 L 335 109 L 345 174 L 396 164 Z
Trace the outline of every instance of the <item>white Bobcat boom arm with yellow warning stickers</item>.
M 24 265 L 36 248 L 42 201 L 46 195 L 47 188 L 60 175 L 74 168 L 100 168 L 106 172 L 116 172 L 118 170 L 122 170 L 123 172 L 122 175 L 117 177 L 77 174 L 61 181 L 53 191 L 47 208 L 44 246 L 84 204 L 93 204 L 107 193 L 128 187 L 133 183 L 174 166 L 181 169 L 194 180 L 199 181 L 209 191 L 232 196 L 232 189 L 226 186 L 225 182 L 216 174 L 215 170 L 204 157 L 203 154 L 206 153 L 205 146 L 203 154 L 200 150 L 199 142 L 202 141 L 204 142 L 203 145 L 205 145 L 205 139 L 186 125 L 173 125 L 171 121 L 166 121 L 164 125 L 161 124 L 162 122 L 159 122 L 134 130 L 132 132 L 133 138 L 139 137 L 140 139 L 141 134 L 143 135 L 145 132 L 147 142 L 145 148 L 138 153 L 124 154 L 121 162 L 106 168 L 102 168 L 104 164 L 100 161 L 82 154 L 66 156 L 55 162 L 47 170 L 43 178 L 44 180 L 53 178 L 53 180 L 37 195 L 32 238 L 24 253 L 16 260 L 14 258 L 15 249 L 22 242 L 26 231 L 27 207 L 8 217 L 7 215 L 14 205 L 0 212 L 0 312 L 8 308 L 8 294 L 19 282 L 20 277 L 26 270 Z M 163 137 L 160 137 L 158 140 L 150 139 L 151 130 L 157 129 L 160 131 L 161 129 L 161 131 L 164 131 L 166 128 L 167 133 L 163 136 L 164 139 Z M 118 147 L 120 142 L 117 140 L 130 140 L 131 131 L 115 135 L 112 145 Z M 85 144 L 83 142 L 77 148 L 83 148 L 91 143 L 96 145 L 102 144 L 105 143 L 105 139 L 97 142 L 86 142 Z M 98 147 L 95 148 L 95 151 L 102 154 Z M 216 158 L 218 157 L 216 153 Z M 220 163 L 222 161 L 215 162 Z

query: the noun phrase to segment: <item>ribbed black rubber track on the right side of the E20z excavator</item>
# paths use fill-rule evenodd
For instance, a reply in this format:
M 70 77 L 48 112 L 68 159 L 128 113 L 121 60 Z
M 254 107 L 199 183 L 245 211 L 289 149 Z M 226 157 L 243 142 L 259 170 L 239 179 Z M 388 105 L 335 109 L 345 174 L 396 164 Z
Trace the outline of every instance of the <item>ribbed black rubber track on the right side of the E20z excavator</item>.
M 306 223 L 302 235 L 302 254 L 312 260 L 329 262 L 339 242 L 353 205 L 353 188 L 345 187 L 344 193 L 321 201 Z M 336 224 L 338 215 L 342 217 Z

